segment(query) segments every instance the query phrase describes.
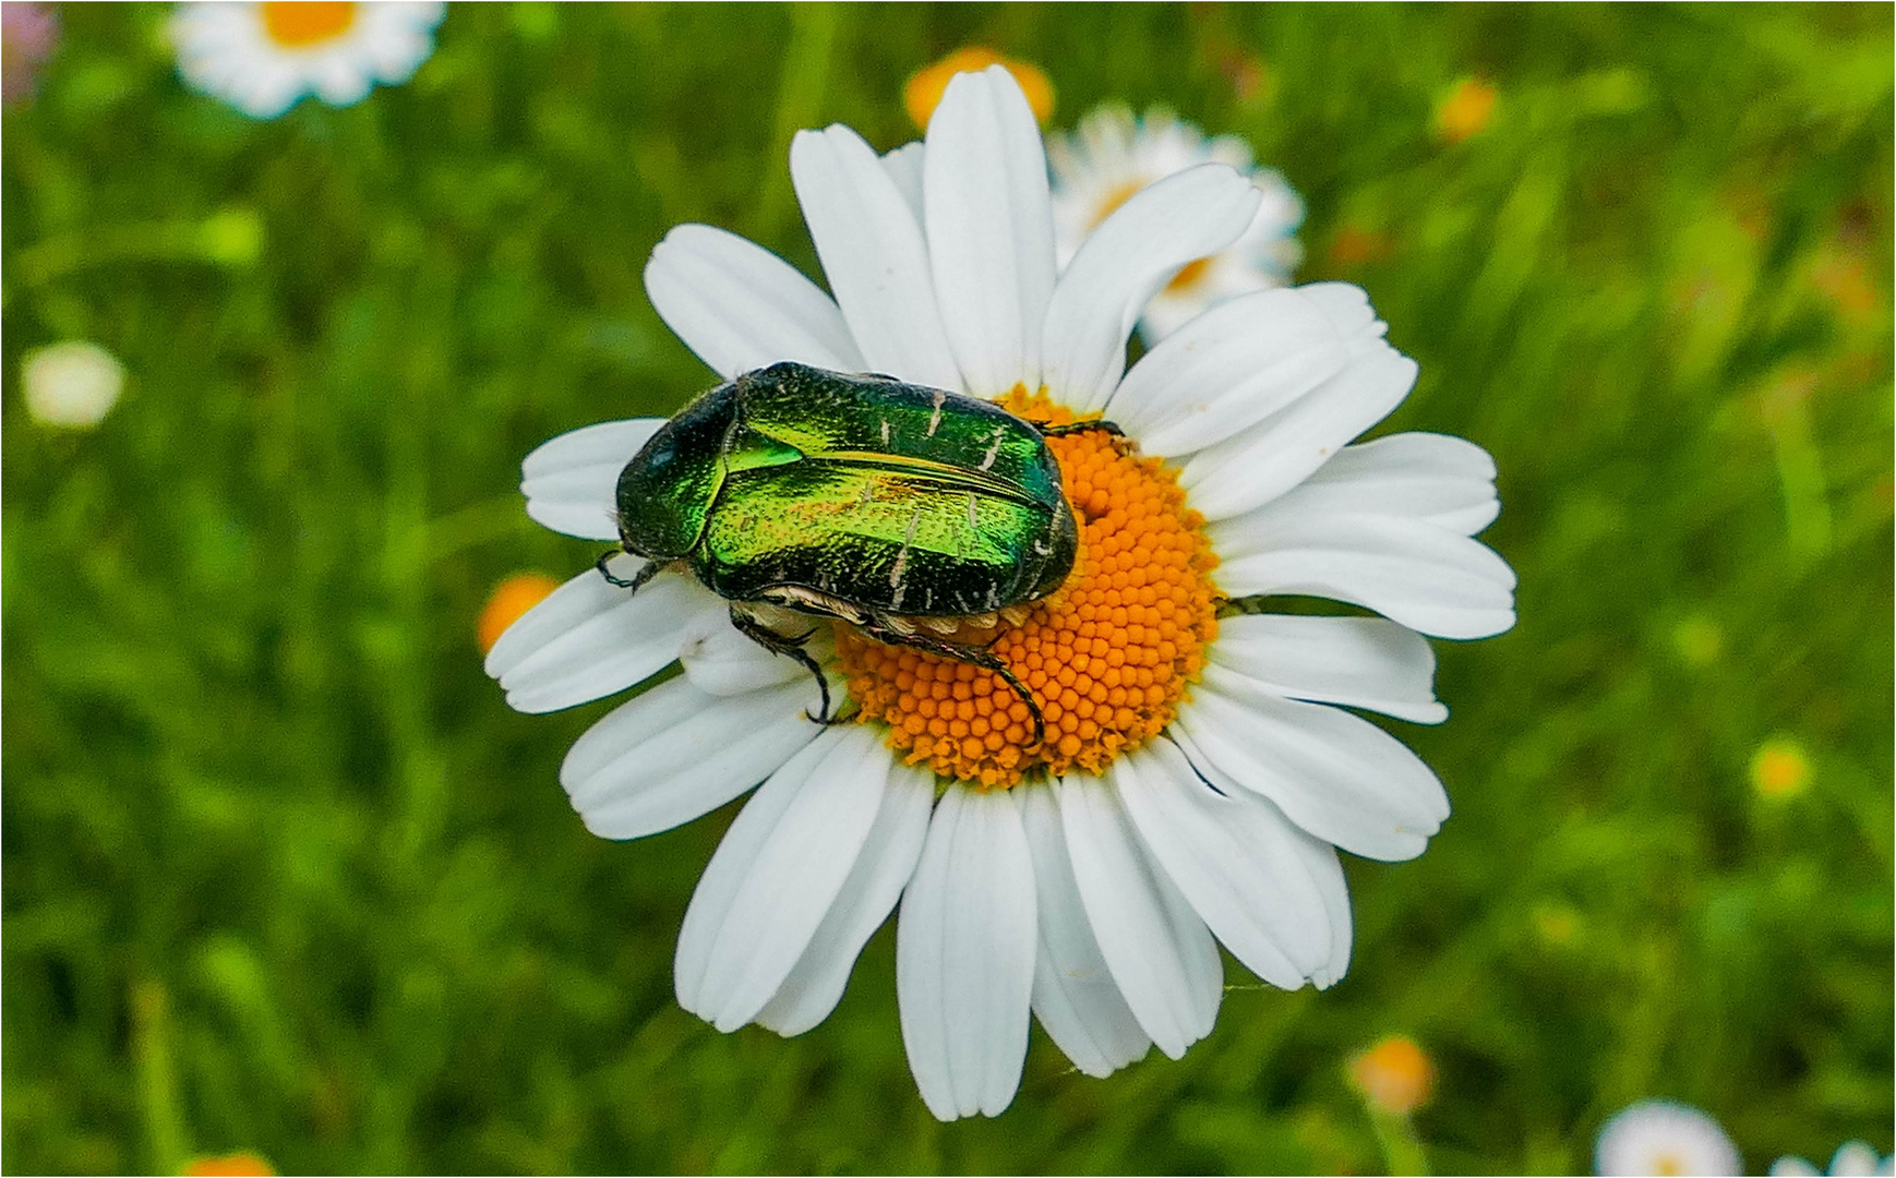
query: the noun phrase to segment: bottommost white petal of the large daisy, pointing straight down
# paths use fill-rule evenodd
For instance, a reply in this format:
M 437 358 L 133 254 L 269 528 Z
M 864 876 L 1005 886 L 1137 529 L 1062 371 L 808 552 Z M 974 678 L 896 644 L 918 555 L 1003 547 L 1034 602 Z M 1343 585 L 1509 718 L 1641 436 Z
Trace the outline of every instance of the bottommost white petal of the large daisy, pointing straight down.
M 950 785 L 895 926 L 902 1045 L 923 1104 L 942 1121 L 999 1115 L 1020 1087 L 1035 928 L 1012 791 Z

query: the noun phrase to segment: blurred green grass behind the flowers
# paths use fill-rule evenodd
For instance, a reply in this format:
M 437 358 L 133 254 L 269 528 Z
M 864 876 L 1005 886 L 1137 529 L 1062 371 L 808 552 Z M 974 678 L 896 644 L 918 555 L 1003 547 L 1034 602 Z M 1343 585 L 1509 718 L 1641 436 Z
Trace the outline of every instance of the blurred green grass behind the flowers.
M 1752 1172 L 1892 1121 L 1890 6 L 455 6 L 415 80 L 258 123 L 163 8 L 64 6 L 4 123 L 4 1167 L 284 1172 L 1384 1165 L 1346 1058 L 1435 1060 L 1445 1172 L 1585 1170 L 1640 1096 Z M 597 840 L 556 772 L 607 704 L 506 709 L 474 618 L 595 546 L 520 457 L 709 383 L 641 288 L 703 220 L 808 273 L 785 152 L 914 137 L 963 44 L 1246 137 L 1299 281 L 1361 283 L 1422 379 L 1378 433 L 1500 463 L 1521 624 L 1437 643 L 1403 728 L 1456 814 L 1348 861 L 1325 994 L 1231 966 L 1213 1036 L 1107 1081 L 1035 1032 L 937 1125 L 891 928 L 779 1040 L 681 1013 L 734 808 Z M 1460 78 L 1498 89 L 1464 142 Z M 19 360 L 129 393 L 36 427 Z M 1788 740 L 1811 782 L 1765 797 Z

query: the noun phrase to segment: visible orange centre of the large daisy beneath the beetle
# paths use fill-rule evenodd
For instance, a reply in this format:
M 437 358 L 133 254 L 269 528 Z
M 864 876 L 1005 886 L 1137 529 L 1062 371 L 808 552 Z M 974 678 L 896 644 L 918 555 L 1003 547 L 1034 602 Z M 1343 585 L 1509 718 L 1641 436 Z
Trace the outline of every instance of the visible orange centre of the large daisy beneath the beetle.
M 1048 425 L 1075 421 L 1045 393 L 1014 387 L 1001 404 Z M 1079 524 L 1073 573 L 982 641 L 1028 685 L 1047 721 L 1033 745 L 1028 706 L 994 672 L 887 647 L 836 626 L 836 654 L 859 719 L 889 728 L 908 764 L 982 787 L 1030 772 L 1103 772 L 1172 723 L 1217 637 L 1217 556 L 1177 474 L 1105 431 L 1048 438 Z

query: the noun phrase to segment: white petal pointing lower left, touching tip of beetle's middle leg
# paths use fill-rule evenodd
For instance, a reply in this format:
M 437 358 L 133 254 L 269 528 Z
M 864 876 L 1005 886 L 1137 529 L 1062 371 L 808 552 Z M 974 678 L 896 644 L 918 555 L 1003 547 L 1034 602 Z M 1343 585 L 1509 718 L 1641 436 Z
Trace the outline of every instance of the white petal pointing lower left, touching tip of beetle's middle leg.
M 717 810 L 823 732 L 808 679 L 713 696 L 671 679 L 626 700 L 559 766 L 573 808 L 601 838 L 643 838 Z

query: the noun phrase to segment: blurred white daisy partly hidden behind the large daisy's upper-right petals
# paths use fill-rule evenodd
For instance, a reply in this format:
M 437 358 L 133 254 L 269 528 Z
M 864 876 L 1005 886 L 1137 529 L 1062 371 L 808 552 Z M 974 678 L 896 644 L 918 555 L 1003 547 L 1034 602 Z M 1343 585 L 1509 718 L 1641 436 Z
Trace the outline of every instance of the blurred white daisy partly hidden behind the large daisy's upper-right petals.
M 1141 188 L 1202 163 L 1229 163 L 1246 175 L 1263 197 L 1251 224 L 1231 245 L 1191 258 L 1153 294 L 1139 319 L 1139 334 L 1157 343 L 1206 307 L 1253 290 L 1284 286 L 1303 245 L 1303 201 L 1270 169 L 1251 167 L 1251 148 L 1234 135 L 1206 138 L 1198 127 L 1170 110 L 1153 108 L 1134 118 L 1121 104 L 1107 104 L 1067 135 L 1047 146 L 1052 163 L 1054 245 L 1060 266 L 1071 262 L 1081 243 Z

